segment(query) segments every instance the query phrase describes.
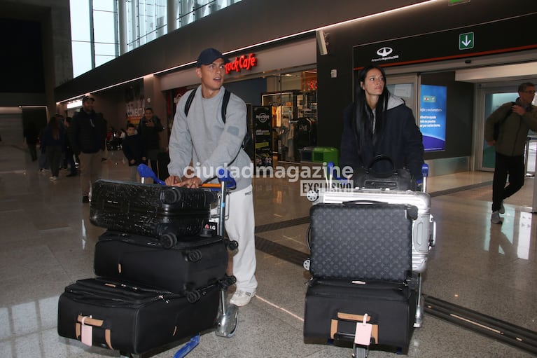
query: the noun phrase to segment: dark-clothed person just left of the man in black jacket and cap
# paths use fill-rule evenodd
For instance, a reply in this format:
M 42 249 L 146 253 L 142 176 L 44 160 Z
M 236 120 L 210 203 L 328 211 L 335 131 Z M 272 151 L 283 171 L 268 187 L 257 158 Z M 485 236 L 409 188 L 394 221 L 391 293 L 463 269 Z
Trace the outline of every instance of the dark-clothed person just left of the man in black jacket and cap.
M 64 130 L 60 125 L 57 117 L 50 117 L 48 125 L 43 130 L 41 141 L 41 151 L 44 151 L 50 163 L 50 172 L 52 177 L 49 179 L 56 181 L 60 174 L 60 163 L 62 161 L 62 153 L 65 148 Z

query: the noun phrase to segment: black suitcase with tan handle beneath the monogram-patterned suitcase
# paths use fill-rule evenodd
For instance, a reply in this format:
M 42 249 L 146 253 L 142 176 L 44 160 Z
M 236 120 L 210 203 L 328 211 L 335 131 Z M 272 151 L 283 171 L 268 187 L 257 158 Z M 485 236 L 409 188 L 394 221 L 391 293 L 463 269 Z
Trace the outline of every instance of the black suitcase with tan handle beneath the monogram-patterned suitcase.
M 397 282 L 310 280 L 304 336 L 354 341 L 356 324 L 367 313 L 372 342 L 408 347 L 414 328 L 417 292 Z

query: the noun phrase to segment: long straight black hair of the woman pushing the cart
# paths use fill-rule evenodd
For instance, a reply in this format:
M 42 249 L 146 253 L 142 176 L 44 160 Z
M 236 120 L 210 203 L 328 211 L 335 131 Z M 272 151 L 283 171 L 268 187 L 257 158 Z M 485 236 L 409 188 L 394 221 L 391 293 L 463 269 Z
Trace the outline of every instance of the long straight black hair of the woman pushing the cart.
M 375 113 L 368 106 L 368 102 L 365 100 L 365 90 L 363 90 L 361 83 L 365 82 L 365 76 L 372 69 L 378 69 L 384 78 L 384 89 L 379 96 L 377 106 L 375 106 Z M 384 111 L 388 108 L 388 99 L 390 92 L 386 83 L 386 72 L 382 67 L 375 65 L 369 65 L 360 71 L 358 74 L 358 88 L 356 88 L 355 99 L 355 111 L 353 130 L 356 137 L 356 144 L 358 148 L 358 154 L 361 153 L 361 149 L 366 146 L 374 146 L 375 143 L 382 137 L 384 131 Z M 375 124 L 373 124 L 373 120 Z M 373 127 L 374 126 L 374 127 Z

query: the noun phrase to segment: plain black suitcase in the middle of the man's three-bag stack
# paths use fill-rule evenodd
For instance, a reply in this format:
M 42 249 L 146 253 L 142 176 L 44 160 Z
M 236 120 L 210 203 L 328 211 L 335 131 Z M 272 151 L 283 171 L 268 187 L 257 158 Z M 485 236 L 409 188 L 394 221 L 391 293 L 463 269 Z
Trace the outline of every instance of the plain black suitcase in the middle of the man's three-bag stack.
M 152 237 L 107 230 L 95 245 L 93 263 L 97 276 L 187 294 L 224 277 L 228 247 L 236 244 L 209 235 L 181 237 L 164 249 Z

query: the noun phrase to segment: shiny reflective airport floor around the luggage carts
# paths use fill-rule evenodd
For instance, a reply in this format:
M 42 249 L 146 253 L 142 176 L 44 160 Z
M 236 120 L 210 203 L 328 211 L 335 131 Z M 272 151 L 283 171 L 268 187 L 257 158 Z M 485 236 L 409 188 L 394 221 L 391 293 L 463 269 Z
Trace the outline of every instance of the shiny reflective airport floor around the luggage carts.
M 103 162 L 106 179 L 127 179 L 120 152 Z M 0 142 L 0 357 L 118 357 L 118 352 L 57 335 L 57 299 L 75 280 L 93 277 L 93 249 L 103 228 L 88 221 L 79 177 L 51 182 L 22 146 Z M 428 180 L 437 244 L 423 291 L 537 331 L 537 216 L 533 179 L 505 200 L 503 225 L 489 221 L 492 174 L 469 172 Z M 463 190 L 461 190 L 463 188 Z M 305 283 L 300 265 L 309 202 L 300 181 L 254 179 L 258 296 L 239 309 L 233 338 L 204 333 L 188 357 L 351 357 L 349 347 L 305 343 Z M 289 221 L 298 219 L 295 221 Z M 283 223 L 273 226 L 271 223 Z M 272 245 L 272 246 L 271 246 Z M 291 254 L 294 254 L 292 256 Z M 298 257 L 298 259 L 297 259 Z M 180 346 L 154 357 L 174 357 Z M 433 315 L 415 329 L 408 357 L 533 357 L 533 354 Z M 394 352 L 372 347 L 370 358 Z

